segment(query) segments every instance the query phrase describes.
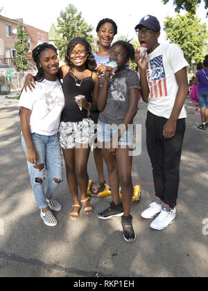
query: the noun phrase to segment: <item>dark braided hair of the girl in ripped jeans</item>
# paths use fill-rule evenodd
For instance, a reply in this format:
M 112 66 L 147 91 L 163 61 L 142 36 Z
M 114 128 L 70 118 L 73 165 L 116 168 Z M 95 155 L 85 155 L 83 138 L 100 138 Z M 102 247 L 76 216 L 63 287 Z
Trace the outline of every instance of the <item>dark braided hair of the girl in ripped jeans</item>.
M 44 42 L 44 44 L 39 44 L 36 46 L 36 48 L 33 49 L 33 60 L 37 67 L 37 75 L 34 78 L 37 82 L 42 82 L 44 80 L 44 70 L 40 67 L 40 53 L 48 48 L 55 51 L 55 53 L 58 55 L 55 46 L 53 46 L 53 44 L 47 44 L 46 42 Z

